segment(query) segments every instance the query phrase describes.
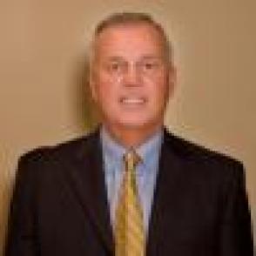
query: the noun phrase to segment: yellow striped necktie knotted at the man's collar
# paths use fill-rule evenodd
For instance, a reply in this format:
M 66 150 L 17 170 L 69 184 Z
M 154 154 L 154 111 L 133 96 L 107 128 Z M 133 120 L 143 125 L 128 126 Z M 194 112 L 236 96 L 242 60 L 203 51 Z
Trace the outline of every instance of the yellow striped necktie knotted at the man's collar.
M 124 157 L 125 173 L 115 219 L 115 256 L 145 256 L 143 212 L 138 199 L 135 167 L 140 158 L 133 150 Z

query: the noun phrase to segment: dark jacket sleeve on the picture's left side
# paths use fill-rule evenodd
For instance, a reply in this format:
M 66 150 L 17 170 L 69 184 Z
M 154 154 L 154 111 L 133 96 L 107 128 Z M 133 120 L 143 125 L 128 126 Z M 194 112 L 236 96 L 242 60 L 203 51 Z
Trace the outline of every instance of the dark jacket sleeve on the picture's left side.
M 36 256 L 37 237 L 37 162 L 39 152 L 19 159 L 13 196 L 10 202 L 5 256 Z

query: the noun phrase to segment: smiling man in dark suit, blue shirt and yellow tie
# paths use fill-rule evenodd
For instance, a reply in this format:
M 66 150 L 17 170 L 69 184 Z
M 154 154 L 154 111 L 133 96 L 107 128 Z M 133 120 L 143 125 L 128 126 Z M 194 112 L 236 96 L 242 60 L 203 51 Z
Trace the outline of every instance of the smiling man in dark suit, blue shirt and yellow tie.
M 151 17 L 98 25 L 90 85 L 101 125 L 20 159 L 6 255 L 253 256 L 243 166 L 163 126 L 174 82 Z

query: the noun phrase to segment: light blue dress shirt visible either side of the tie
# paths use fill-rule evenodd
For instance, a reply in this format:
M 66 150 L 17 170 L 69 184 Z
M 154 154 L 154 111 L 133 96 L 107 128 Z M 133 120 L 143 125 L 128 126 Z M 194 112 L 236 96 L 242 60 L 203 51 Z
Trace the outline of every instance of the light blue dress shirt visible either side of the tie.
M 127 149 L 111 138 L 104 127 L 101 129 L 100 135 L 103 148 L 107 196 L 110 205 L 111 223 L 113 224 L 118 203 L 119 189 L 123 179 L 123 172 L 125 171 L 123 156 Z M 148 232 L 148 224 L 151 216 L 161 144 L 162 131 L 158 131 L 143 145 L 135 149 L 139 157 L 142 158 L 142 161 L 136 168 L 136 179 L 146 234 Z

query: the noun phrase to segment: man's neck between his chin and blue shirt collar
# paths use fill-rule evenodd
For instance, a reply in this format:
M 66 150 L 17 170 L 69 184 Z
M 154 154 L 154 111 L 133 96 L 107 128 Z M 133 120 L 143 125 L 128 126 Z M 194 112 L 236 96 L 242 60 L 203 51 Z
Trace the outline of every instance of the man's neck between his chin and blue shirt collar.
M 130 148 L 143 144 L 148 138 L 151 138 L 156 132 L 160 131 L 162 126 L 162 124 L 155 125 L 151 129 L 145 129 L 145 127 L 125 127 L 122 129 L 121 127 L 104 125 L 104 128 L 119 144 Z

